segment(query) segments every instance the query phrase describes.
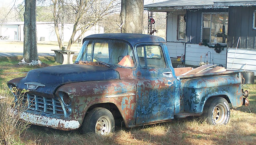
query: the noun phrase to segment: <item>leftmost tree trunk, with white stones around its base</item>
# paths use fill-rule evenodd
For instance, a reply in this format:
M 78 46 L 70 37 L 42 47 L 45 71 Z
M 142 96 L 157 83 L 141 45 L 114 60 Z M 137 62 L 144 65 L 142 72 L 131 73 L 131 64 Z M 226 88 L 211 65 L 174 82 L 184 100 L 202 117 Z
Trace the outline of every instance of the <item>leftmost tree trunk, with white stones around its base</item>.
M 25 0 L 23 58 L 27 63 L 39 60 L 36 34 L 36 0 Z

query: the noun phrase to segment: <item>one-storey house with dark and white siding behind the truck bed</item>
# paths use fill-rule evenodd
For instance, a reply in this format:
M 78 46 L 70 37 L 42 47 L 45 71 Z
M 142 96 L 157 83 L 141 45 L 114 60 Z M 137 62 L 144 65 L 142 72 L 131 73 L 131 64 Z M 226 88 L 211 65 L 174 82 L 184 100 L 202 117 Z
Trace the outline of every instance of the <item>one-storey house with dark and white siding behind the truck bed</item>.
M 256 75 L 256 1 L 170 0 L 144 10 L 166 12 L 171 57 L 185 54 L 186 65 L 208 62 Z

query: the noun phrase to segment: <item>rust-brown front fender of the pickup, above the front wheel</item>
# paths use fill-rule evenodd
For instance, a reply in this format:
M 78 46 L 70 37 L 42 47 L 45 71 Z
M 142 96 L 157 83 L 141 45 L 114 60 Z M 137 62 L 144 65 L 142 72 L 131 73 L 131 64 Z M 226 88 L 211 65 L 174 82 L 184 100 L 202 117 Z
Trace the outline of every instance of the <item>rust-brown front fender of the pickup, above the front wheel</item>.
M 134 80 L 108 80 L 75 82 L 61 86 L 56 94 L 64 92 L 71 98 L 69 119 L 81 124 L 90 106 L 100 103 L 113 103 L 119 109 L 125 125 L 132 126 L 136 121 L 137 85 Z

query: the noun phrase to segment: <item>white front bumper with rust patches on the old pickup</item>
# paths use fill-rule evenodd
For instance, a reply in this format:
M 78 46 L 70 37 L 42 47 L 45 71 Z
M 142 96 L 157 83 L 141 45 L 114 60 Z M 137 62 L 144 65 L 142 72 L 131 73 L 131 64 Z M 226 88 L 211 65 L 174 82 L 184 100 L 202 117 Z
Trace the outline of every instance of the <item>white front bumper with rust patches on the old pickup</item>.
M 60 130 L 74 130 L 80 127 L 80 123 L 77 120 L 63 120 L 63 119 L 46 117 L 42 115 L 36 115 L 28 112 L 21 112 L 20 120 L 29 122 L 34 125 L 46 126 L 46 127 L 51 127 L 51 128 L 60 129 Z

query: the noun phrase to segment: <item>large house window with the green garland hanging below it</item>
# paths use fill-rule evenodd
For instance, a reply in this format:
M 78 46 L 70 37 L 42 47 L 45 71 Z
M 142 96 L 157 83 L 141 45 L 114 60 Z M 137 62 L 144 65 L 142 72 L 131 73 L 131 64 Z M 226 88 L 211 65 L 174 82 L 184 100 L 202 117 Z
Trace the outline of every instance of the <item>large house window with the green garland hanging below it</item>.
M 202 42 L 227 43 L 227 13 L 203 13 L 202 20 Z

